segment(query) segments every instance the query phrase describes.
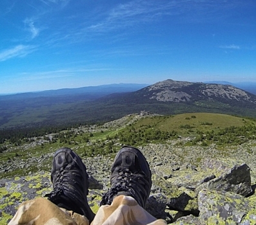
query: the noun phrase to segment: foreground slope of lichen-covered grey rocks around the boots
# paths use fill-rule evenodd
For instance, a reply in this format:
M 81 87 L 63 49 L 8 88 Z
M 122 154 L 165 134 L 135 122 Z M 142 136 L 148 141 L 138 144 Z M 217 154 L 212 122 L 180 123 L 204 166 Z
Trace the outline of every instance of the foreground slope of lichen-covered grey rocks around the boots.
M 255 224 L 256 142 L 218 149 L 177 147 L 177 141 L 139 147 L 152 170 L 146 210 L 172 224 Z M 88 202 L 97 212 L 110 186 L 113 159 L 95 156 L 83 161 L 90 175 Z M 1 179 L 0 224 L 6 224 L 19 203 L 50 190 L 49 171 Z

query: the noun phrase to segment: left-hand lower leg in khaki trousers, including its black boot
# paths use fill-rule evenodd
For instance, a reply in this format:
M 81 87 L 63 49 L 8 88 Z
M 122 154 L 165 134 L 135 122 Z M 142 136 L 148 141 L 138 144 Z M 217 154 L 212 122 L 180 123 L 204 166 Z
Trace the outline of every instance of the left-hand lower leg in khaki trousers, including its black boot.
M 52 162 L 54 190 L 44 198 L 26 201 L 19 206 L 11 224 L 88 225 L 95 214 L 90 209 L 88 174 L 81 158 L 71 149 L 59 149 Z

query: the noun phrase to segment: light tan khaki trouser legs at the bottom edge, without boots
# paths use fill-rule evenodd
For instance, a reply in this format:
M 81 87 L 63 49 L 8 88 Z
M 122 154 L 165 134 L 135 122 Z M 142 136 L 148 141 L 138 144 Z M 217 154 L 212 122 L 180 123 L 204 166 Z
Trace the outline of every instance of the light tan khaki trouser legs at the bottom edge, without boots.
M 22 203 L 8 225 L 89 225 L 83 215 L 59 208 L 39 197 Z M 166 221 L 155 219 L 129 196 L 120 195 L 113 203 L 101 206 L 92 225 L 164 225 Z

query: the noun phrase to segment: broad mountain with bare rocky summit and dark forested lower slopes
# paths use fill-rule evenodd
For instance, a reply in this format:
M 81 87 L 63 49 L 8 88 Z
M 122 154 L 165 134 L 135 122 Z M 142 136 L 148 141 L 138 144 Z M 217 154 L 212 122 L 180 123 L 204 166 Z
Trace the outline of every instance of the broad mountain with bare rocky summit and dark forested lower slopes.
M 164 80 L 133 93 L 104 96 L 97 102 L 158 114 L 204 112 L 256 117 L 255 95 L 232 85 L 201 82 Z

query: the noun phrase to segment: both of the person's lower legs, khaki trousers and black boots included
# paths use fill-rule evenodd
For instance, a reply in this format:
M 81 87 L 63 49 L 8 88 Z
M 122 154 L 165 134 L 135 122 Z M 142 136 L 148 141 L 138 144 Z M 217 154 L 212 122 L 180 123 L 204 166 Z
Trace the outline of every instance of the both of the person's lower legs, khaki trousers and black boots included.
M 75 152 L 57 150 L 51 174 L 54 190 L 47 195 L 49 200 L 37 198 L 22 203 L 9 225 L 166 224 L 144 210 L 152 181 L 148 163 L 138 149 L 123 147 L 117 153 L 111 188 L 103 196 L 95 219 L 86 199 L 87 179 L 86 167 Z

